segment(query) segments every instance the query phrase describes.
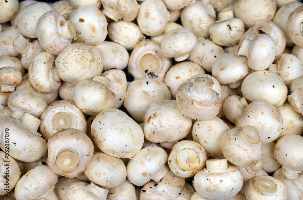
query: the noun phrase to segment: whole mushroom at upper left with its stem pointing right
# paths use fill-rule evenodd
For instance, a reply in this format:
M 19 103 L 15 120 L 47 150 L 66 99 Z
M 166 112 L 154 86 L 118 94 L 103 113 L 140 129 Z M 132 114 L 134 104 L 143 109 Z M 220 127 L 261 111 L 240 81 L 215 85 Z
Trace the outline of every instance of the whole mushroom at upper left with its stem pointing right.
M 76 29 L 72 21 L 57 11 L 47 11 L 38 20 L 36 34 L 41 46 L 49 53 L 58 55 L 72 44 Z

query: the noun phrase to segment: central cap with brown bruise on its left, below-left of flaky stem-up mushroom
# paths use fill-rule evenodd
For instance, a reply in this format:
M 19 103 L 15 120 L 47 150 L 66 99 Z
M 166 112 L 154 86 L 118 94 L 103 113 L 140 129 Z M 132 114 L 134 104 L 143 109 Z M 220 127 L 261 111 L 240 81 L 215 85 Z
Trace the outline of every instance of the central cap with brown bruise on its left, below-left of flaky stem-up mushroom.
M 189 133 L 191 118 L 185 116 L 176 100 L 149 104 L 144 116 L 144 136 L 151 142 L 174 142 Z

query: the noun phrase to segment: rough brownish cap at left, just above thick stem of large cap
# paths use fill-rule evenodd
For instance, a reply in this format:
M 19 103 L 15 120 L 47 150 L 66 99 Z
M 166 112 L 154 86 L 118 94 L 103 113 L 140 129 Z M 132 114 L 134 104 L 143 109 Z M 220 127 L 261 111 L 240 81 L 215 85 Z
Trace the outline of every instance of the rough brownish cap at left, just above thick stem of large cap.
M 28 112 L 36 118 L 40 118 L 42 112 L 47 108 L 45 100 L 40 95 L 27 89 L 13 92 L 8 97 L 7 103 L 14 112 Z

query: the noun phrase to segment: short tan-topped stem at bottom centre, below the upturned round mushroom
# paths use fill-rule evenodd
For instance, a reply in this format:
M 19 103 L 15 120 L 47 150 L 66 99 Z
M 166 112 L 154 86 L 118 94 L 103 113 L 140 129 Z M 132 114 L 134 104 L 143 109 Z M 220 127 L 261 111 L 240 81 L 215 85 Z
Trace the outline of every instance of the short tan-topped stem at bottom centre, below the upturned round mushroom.
M 168 172 L 158 183 L 170 195 L 179 195 L 184 184 L 185 178 L 176 176 L 171 171 Z

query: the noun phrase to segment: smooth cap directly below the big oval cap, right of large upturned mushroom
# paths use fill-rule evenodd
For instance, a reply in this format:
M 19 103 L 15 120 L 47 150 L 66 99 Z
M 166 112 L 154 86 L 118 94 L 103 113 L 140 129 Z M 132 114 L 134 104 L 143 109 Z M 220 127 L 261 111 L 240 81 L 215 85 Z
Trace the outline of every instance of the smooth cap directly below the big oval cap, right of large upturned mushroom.
M 94 153 L 84 173 L 90 181 L 104 188 L 118 187 L 126 179 L 126 167 L 122 160 L 102 152 Z

